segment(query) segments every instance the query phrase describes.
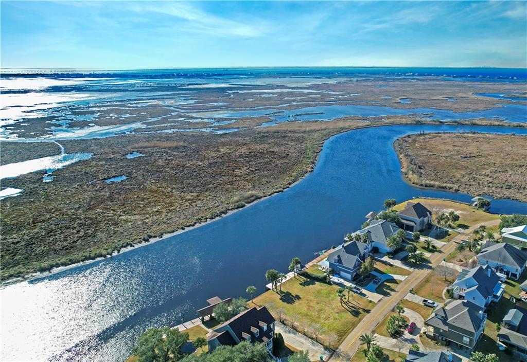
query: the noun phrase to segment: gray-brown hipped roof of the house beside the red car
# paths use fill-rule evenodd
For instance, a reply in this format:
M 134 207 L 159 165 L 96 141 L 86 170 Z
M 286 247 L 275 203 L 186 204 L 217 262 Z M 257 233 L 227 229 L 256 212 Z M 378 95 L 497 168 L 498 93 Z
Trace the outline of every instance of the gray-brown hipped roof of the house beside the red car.
M 426 324 L 445 330 L 448 330 L 448 326 L 455 326 L 475 333 L 481 326 L 480 311 L 483 308 L 479 305 L 458 299 L 437 308 Z

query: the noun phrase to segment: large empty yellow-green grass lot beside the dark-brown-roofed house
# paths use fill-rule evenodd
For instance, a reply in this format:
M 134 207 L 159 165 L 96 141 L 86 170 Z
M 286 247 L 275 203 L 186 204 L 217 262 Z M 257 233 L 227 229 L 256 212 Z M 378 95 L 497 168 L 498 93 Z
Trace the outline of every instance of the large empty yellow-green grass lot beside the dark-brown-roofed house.
M 256 297 L 254 303 L 267 306 L 278 320 L 282 314 L 286 324 L 291 326 L 294 322 L 292 327 L 301 333 L 316 328 L 320 333 L 318 340 L 326 345 L 327 337 L 334 334 L 336 341 L 331 345 L 338 346 L 375 303 L 358 295 L 355 300 L 350 296 L 348 302 L 346 295 L 341 304 L 337 289 L 335 285 L 297 276 L 282 284 L 281 292 L 268 290 Z

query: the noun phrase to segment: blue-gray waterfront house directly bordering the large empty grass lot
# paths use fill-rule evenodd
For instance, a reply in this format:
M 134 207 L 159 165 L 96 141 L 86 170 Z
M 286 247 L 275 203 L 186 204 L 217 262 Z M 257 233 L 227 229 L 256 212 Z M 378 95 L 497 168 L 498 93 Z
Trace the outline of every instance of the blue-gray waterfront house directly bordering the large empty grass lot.
M 358 273 L 360 265 L 368 257 L 371 249 L 372 246 L 370 244 L 357 242 L 356 240 L 338 246 L 327 257 L 329 267 L 340 277 L 352 280 Z

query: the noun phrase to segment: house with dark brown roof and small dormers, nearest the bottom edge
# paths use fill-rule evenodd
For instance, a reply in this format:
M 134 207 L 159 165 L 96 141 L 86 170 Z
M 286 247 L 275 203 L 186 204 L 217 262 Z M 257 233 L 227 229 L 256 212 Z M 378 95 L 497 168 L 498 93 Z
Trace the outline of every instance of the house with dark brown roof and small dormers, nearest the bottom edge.
M 207 334 L 209 351 L 218 346 L 235 346 L 241 341 L 265 343 L 272 355 L 275 318 L 266 307 L 252 307 L 232 317 Z

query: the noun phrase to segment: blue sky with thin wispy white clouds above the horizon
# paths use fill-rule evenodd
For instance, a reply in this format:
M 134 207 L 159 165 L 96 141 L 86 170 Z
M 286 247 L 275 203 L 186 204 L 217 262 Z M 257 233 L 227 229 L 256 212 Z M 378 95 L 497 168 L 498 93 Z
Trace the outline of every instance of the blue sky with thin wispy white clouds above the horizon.
M 2 67 L 527 67 L 527 2 L 1 2 Z

